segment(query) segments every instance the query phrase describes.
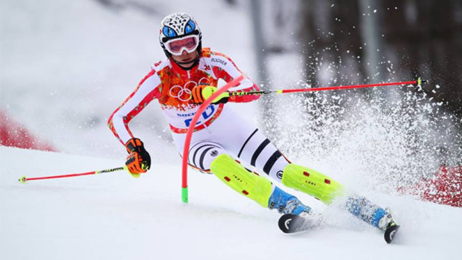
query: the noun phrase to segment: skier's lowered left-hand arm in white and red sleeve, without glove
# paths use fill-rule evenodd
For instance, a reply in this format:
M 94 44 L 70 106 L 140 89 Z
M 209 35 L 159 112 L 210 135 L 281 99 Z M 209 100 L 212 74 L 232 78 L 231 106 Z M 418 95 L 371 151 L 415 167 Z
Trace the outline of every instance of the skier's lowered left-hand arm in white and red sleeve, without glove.
M 112 113 L 108 120 L 108 127 L 115 137 L 125 145 L 134 138 L 128 123 L 138 115 L 143 108 L 155 98 L 160 97 L 160 78 L 155 70 L 151 70 L 138 84 L 137 88 L 128 98 Z

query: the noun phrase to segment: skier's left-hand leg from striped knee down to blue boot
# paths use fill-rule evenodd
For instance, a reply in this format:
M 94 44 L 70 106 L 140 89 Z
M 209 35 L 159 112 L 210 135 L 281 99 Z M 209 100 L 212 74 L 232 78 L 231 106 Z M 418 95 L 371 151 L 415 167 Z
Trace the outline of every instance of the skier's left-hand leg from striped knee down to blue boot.
M 203 141 L 191 146 L 189 163 L 203 172 L 211 172 L 236 192 L 253 199 L 265 208 L 276 208 L 280 213 L 300 215 L 310 213 L 295 196 L 288 194 L 268 179 L 245 169 L 226 154 L 223 147 L 214 142 Z

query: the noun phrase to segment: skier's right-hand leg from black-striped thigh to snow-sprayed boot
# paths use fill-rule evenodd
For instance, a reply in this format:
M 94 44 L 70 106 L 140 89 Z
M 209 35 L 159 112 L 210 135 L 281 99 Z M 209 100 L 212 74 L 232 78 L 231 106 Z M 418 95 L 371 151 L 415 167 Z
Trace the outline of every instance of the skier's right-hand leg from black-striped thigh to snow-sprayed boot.
M 243 134 L 244 131 L 246 135 Z M 227 137 L 234 142 L 225 141 L 225 147 L 235 153 L 239 160 L 255 166 L 285 186 L 309 194 L 327 205 L 336 198 L 345 201 L 340 204 L 349 212 L 380 229 L 386 228 L 387 222 L 392 220 L 391 214 L 386 210 L 364 197 L 348 194 L 339 182 L 329 176 L 290 163 L 258 129 L 252 132 L 245 127 L 241 131 L 233 129 L 232 134 L 227 133 Z

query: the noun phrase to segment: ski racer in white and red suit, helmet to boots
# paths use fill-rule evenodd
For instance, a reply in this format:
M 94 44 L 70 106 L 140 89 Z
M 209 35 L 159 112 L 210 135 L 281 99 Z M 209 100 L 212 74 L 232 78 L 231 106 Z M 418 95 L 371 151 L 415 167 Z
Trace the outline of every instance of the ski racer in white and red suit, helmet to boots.
M 132 135 L 128 122 L 153 99 L 157 99 L 169 122 L 177 150 L 183 151 L 187 128 L 199 104 L 217 88 L 219 79 L 226 82 L 241 75 L 226 55 L 202 47 L 202 34 L 194 18 L 186 13 L 167 15 L 159 34 L 167 59 L 151 66 L 132 94 L 108 120 L 112 133 L 125 145 L 126 165 L 134 177 L 150 168 L 151 159 L 143 142 Z M 245 78 L 230 91 L 259 90 Z M 218 97 L 202 113 L 191 139 L 188 163 L 203 173 L 216 175 L 229 187 L 269 209 L 283 214 L 310 216 L 312 210 L 294 195 L 283 191 L 267 178 L 244 168 L 239 161 L 286 187 L 314 196 L 326 204 L 343 198 L 344 206 L 374 227 L 386 230 L 396 225 L 388 210 L 368 199 L 349 195 L 342 185 L 317 171 L 290 162 L 251 123 L 237 115 L 227 102 L 251 102 L 258 95 Z M 239 160 L 239 161 L 238 161 Z

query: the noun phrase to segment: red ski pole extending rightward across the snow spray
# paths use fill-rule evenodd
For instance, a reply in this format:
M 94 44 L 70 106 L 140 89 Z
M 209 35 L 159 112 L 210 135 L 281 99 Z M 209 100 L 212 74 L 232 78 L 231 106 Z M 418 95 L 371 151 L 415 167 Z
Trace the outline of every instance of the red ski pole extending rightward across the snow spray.
M 229 92 L 229 96 L 246 96 L 246 95 L 264 95 L 264 94 L 283 94 L 283 93 L 294 93 L 294 92 L 311 92 L 311 91 L 323 91 L 323 90 L 340 90 L 340 89 L 352 89 L 352 88 L 366 88 L 366 87 L 383 87 L 383 86 L 396 86 L 396 85 L 417 85 L 420 86 L 422 83 L 426 83 L 426 80 L 418 78 L 414 81 L 402 81 L 402 82 L 389 82 L 389 83 L 376 83 L 376 84 L 364 84 L 364 85 L 349 85 L 349 86 L 332 86 L 332 87 L 315 87 L 315 88 L 298 88 L 298 89 L 280 89 L 280 90 L 263 90 L 263 91 L 244 91 Z

